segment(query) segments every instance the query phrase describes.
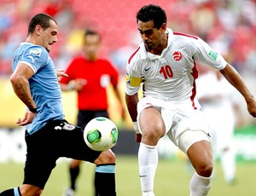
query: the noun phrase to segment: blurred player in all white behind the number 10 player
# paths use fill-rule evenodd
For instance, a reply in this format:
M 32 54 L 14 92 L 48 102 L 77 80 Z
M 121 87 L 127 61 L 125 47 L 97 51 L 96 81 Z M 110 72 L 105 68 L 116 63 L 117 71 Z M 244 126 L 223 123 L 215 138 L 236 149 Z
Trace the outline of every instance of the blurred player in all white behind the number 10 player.
M 236 124 L 243 124 L 237 90 L 218 71 L 209 68 L 197 80 L 197 97 L 207 118 L 212 137 L 213 159 L 219 157 L 224 180 L 236 180 L 236 152 L 233 136 Z

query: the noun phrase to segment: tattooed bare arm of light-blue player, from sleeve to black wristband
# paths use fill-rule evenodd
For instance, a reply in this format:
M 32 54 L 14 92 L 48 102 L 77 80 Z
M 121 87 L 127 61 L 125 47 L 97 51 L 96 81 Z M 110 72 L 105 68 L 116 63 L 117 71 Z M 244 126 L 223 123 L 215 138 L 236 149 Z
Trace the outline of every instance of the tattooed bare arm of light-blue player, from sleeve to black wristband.
M 15 72 L 13 72 L 10 76 L 10 82 L 13 86 L 15 94 L 29 109 L 37 108 L 35 102 L 32 100 L 28 82 L 28 79 L 31 78 L 33 74 L 34 72 L 32 71 L 32 68 L 24 63 L 20 63 L 16 67 Z

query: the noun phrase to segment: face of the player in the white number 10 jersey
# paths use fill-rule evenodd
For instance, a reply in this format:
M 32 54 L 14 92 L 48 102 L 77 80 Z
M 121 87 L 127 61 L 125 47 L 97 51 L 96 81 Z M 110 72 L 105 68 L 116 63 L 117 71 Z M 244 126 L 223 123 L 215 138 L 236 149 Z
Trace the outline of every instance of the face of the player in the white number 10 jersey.
M 162 44 L 163 33 L 166 31 L 165 26 L 157 29 L 154 27 L 153 20 L 149 20 L 148 22 L 138 20 L 137 29 L 140 32 L 148 51 L 157 49 Z

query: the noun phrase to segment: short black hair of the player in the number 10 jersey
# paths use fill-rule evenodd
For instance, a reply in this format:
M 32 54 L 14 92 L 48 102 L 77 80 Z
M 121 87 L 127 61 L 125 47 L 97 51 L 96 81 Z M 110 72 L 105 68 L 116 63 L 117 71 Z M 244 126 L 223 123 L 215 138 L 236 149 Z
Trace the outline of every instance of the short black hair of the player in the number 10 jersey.
M 160 6 L 157 5 L 145 5 L 137 12 L 137 22 L 138 20 L 141 20 L 143 22 L 153 20 L 154 27 L 160 29 L 163 23 L 166 23 L 166 11 L 164 9 L 161 9 Z

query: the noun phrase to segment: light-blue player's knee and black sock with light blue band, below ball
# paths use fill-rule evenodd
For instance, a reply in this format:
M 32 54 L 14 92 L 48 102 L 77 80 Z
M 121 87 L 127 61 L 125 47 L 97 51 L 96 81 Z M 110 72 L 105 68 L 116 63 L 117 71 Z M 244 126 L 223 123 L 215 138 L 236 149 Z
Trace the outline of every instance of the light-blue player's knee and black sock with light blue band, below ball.
M 95 195 L 115 196 L 115 155 L 104 151 L 94 162 L 96 164 Z

